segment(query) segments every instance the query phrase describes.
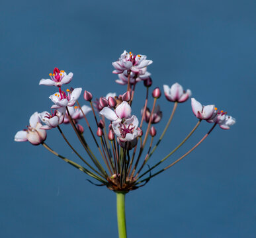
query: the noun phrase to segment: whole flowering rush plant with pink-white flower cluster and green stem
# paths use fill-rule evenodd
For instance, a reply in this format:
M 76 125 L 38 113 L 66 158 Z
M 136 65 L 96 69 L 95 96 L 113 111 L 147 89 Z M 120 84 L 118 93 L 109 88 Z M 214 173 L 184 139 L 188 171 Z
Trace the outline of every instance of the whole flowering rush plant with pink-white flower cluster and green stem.
M 147 60 L 147 56 L 124 51 L 112 65 L 114 67 L 113 73 L 118 75 L 116 83 L 126 85 L 126 91 L 122 92 L 122 95 L 108 93 L 106 97 L 95 100 L 93 100 L 92 93 L 83 91 L 83 99 L 86 102 L 83 106 L 78 101 L 82 93 L 81 88 L 73 89 L 70 87 L 64 90 L 64 85 L 70 83 L 73 79 L 73 73 L 67 74 L 57 67 L 54 68 L 53 73 L 49 74 L 50 79 L 41 79 L 39 83 L 40 85 L 54 86 L 58 89 L 56 93 L 49 97 L 53 102 L 50 112 L 34 112 L 30 116 L 29 126 L 15 135 L 15 141 L 29 141 L 32 145 L 44 146 L 69 165 L 92 177 L 95 182 L 89 181 L 93 184 L 106 186 L 109 190 L 115 192 L 120 238 L 126 237 L 125 194 L 146 185 L 151 178 L 181 161 L 198 147 L 217 125 L 224 130 L 228 130 L 235 123 L 232 116 L 228 116 L 223 110 L 218 110 L 214 104 L 203 106 L 192 98 L 192 112 L 198 118 L 194 128 L 163 159 L 157 161 L 151 167 L 146 166 L 165 136 L 178 104 L 188 101 L 191 97 L 191 90 L 183 90 L 179 83 L 174 83 L 171 87 L 163 85 L 165 98 L 173 105 L 173 109 L 169 112 L 170 116 L 163 132 L 157 138 L 156 124 L 161 122 L 163 113 L 157 105 L 157 100 L 161 97 L 159 87 L 151 91 L 153 105 L 149 106 L 148 103 L 149 89 L 152 85 L 148 66 L 151 63 L 153 61 Z M 141 105 L 141 115 L 134 115 L 132 114 L 132 102 L 136 85 L 140 82 L 144 83 L 146 99 Z M 87 119 L 89 112 L 93 114 L 93 121 L 97 130 L 92 129 L 92 122 Z M 79 122 L 82 119 L 85 120 L 85 128 Z M 202 121 L 212 124 L 210 130 L 184 155 L 176 158 L 167 167 L 161 168 L 163 161 L 169 159 L 191 137 Z M 80 155 L 75 149 L 77 145 L 73 145 L 66 138 L 61 129 L 62 124 L 71 125 L 81 146 L 87 153 L 86 157 Z M 57 128 L 65 143 L 81 159 L 83 165 L 67 159 L 67 157 L 60 155 L 46 144 L 46 131 L 53 128 Z M 96 151 L 91 149 L 89 141 L 95 143 Z

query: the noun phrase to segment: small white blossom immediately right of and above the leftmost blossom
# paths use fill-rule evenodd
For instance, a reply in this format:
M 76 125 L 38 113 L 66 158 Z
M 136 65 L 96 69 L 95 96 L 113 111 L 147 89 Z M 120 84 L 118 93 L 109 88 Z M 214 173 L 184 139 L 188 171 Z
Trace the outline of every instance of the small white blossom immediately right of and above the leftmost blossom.
M 65 108 L 59 108 L 54 110 L 54 112 L 41 112 L 38 114 L 40 120 L 44 122 L 44 126 L 41 129 L 50 130 L 56 128 L 58 125 L 64 122 Z

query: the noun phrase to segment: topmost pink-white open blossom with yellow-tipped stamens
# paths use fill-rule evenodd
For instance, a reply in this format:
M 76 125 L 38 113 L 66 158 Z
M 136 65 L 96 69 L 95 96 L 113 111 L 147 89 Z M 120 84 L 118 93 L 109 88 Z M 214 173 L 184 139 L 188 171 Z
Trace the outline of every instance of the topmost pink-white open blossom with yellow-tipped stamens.
M 140 69 L 147 67 L 151 63 L 152 60 L 146 60 L 147 56 L 144 55 L 134 55 L 132 52 L 128 53 L 126 50 L 121 54 L 118 61 L 112 63 L 116 70 L 113 73 L 119 74 L 124 72 L 125 70 L 132 71 L 134 73 L 139 73 Z

